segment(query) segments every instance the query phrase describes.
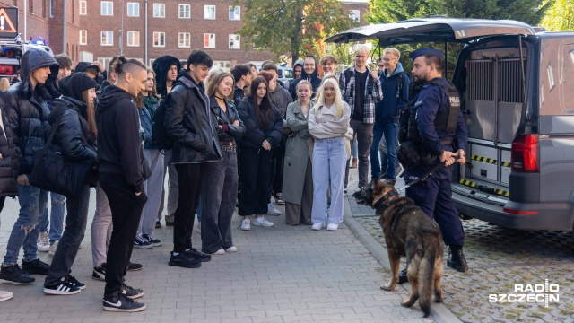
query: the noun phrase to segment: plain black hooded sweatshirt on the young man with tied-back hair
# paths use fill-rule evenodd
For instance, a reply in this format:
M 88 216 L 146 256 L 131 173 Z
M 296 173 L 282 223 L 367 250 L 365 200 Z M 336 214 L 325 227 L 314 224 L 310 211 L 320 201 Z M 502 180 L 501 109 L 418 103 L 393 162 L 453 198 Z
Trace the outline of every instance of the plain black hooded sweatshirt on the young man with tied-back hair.
M 150 169 L 143 160 L 139 115 L 132 96 L 109 85 L 96 99 L 96 123 L 100 173 L 122 174 L 134 193 L 142 192 Z

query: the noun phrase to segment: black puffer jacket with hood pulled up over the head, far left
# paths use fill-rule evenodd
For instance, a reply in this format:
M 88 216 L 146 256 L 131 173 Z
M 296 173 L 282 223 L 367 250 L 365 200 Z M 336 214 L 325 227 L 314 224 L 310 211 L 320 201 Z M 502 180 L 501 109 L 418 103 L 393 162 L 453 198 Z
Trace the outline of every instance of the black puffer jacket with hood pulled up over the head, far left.
M 15 135 L 16 153 L 22 157 L 18 175 L 31 173 L 33 149 L 41 148 L 49 134 L 48 102 L 59 96 L 56 85 L 59 65 L 54 57 L 45 50 L 29 49 L 22 56 L 21 63 L 22 82 L 13 84 L 2 94 L 4 111 Z M 48 80 L 32 88 L 30 73 L 46 66 L 51 72 Z

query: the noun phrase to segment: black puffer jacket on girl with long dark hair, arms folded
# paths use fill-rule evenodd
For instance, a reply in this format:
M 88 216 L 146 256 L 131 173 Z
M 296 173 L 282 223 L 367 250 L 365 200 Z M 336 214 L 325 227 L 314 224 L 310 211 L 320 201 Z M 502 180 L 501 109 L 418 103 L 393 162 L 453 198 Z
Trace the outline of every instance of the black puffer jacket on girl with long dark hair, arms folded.
M 262 131 L 257 125 L 257 117 L 255 115 L 255 107 L 251 97 L 246 96 L 241 100 L 238 107 L 239 118 L 245 124 L 245 135 L 241 141 L 243 148 L 256 148 L 263 149 L 261 144 L 266 140 L 271 144 L 272 148 L 276 148 L 281 143 L 283 117 L 277 107 L 273 105 L 274 118 L 267 122 L 267 126 Z

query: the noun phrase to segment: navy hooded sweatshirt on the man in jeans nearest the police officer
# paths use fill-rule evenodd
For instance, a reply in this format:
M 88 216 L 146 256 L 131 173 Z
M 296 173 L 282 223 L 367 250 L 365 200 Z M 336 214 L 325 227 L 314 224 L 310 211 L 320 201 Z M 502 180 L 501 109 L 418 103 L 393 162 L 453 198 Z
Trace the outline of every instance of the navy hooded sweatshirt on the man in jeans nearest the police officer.
M 409 75 L 404 73 L 403 65 L 396 64 L 395 72 L 387 77 L 387 70 L 379 76 L 380 86 L 383 90 L 383 100 L 375 104 L 375 121 L 398 122 L 400 109 L 404 109 L 409 99 Z M 398 83 L 401 82 L 401 89 Z

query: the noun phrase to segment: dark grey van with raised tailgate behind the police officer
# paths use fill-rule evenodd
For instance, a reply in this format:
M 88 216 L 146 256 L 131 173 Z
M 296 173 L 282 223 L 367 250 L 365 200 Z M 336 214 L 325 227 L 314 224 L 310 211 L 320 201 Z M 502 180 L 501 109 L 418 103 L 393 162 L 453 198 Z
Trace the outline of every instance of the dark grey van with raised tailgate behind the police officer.
M 473 167 L 453 173 L 457 210 L 508 228 L 574 231 L 574 31 L 431 17 L 358 27 L 327 41 L 364 39 L 464 43 L 452 82 Z

